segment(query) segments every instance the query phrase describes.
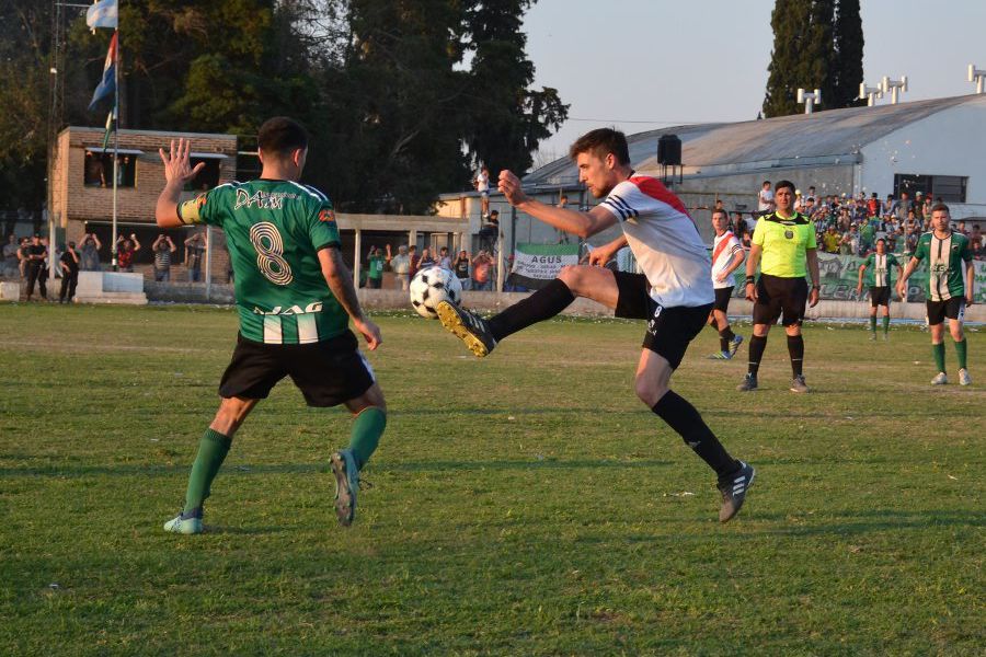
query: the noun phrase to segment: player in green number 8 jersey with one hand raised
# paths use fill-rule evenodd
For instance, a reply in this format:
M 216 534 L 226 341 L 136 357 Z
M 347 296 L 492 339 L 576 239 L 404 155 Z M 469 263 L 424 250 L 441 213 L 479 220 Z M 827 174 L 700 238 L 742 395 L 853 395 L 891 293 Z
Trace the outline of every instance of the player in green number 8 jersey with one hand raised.
M 182 512 L 164 525 L 176 533 L 202 531 L 203 503 L 237 429 L 284 377 L 309 406 L 345 404 L 355 416 L 347 449 L 330 458 L 335 509 L 348 526 L 356 509 L 359 469 L 377 448 L 387 424 L 383 393 L 359 354 L 348 321 L 376 349 L 380 330 L 364 316 L 353 277 L 340 253 L 339 228 L 329 198 L 297 181 L 305 169 L 308 134 L 275 117 L 260 128 L 261 177 L 227 183 L 180 204 L 191 168 L 191 143 L 161 149 L 167 184 L 158 198 L 161 228 L 194 223 L 221 227 L 236 273 L 240 334 L 222 380 L 216 416 L 202 437 Z

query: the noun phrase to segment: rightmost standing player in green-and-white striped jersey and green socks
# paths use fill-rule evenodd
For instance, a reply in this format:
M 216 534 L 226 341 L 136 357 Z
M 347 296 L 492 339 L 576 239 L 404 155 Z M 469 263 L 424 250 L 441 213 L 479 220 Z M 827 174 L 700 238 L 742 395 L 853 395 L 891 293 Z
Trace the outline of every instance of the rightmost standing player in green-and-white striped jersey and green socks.
M 920 237 L 914 256 L 897 281 L 897 293 L 902 299 L 906 299 L 907 279 L 918 264 L 927 258 L 928 327 L 931 330 L 931 354 L 938 367 L 938 374 L 931 379 L 931 385 L 944 385 L 949 382 L 944 368 L 945 318 L 949 319 L 949 333 L 955 341 L 959 383 L 962 385 L 972 383 L 966 368 L 965 335 L 962 332 L 965 307 L 972 306 L 975 292 L 972 247 L 968 238 L 951 229 L 951 220 L 949 206 L 940 203 L 931 208 L 931 231 Z

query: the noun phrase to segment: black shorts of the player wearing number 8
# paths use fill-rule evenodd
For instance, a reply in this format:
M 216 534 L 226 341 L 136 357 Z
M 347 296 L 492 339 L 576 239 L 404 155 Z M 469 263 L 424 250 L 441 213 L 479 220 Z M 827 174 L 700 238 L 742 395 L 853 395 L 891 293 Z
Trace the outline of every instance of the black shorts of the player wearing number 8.
M 337 406 L 374 384 L 374 370 L 357 347 L 352 331 L 308 345 L 266 345 L 238 335 L 219 394 L 264 400 L 290 377 L 309 406 Z

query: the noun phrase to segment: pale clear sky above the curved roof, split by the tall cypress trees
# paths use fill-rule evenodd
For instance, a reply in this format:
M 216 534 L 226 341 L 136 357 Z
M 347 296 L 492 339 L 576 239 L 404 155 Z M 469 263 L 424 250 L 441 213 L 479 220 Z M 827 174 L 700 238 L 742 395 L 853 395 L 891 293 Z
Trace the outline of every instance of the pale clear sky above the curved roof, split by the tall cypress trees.
M 966 68 L 986 68 L 986 1 L 861 4 L 867 84 L 906 74 L 905 102 L 975 91 Z M 600 126 L 632 134 L 756 118 L 772 9 L 773 0 L 540 0 L 525 20 L 527 53 L 536 84 L 557 88 L 571 119 L 542 143 L 536 165 Z

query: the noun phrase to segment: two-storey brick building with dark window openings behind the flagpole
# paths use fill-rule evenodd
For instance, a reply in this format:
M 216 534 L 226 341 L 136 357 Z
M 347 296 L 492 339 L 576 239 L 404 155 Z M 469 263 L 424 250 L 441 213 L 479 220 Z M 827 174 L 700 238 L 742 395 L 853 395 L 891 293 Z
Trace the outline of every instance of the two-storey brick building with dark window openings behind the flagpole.
M 100 253 L 108 267 L 113 218 L 113 145 L 103 149 L 103 128 L 70 126 L 58 134 L 51 171 L 51 210 L 65 240 L 80 243 L 94 232 L 103 243 Z M 236 177 L 237 138 L 234 135 L 121 130 L 117 173 L 117 233 L 135 234 L 141 249 L 135 257 L 135 270 L 148 276 L 153 263 L 151 244 L 161 232 L 169 233 L 179 251 L 172 256 L 172 280 L 185 280 L 184 240 L 195 229 L 161 231 L 154 223 L 154 205 L 164 187 L 164 169 L 158 155 L 172 139 L 192 140 L 192 163 L 205 168 L 186 188 L 184 198 L 229 182 Z M 221 230 L 210 231 L 213 279 L 226 281 L 229 256 Z M 59 240 L 61 241 L 61 240 Z

